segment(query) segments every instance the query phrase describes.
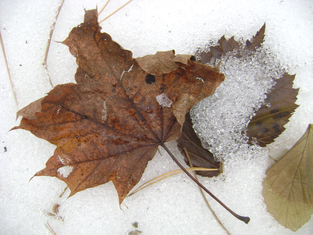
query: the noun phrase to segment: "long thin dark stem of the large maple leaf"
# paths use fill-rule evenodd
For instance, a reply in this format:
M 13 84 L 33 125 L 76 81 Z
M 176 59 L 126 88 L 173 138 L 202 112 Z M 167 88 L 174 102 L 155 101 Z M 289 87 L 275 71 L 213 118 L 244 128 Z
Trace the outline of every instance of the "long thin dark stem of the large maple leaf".
M 221 204 L 226 210 L 228 210 L 228 212 L 230 212 L 234 217 L 236 217 L 237 219 L 245 222 L 246 224 L 250 221 L 249 217 L 244 217 L 244 216 L 240 216 L 238 214 L 236 214 L 235 212 L 233 212 L 231 209 L 229 209 L 222 201 L 220 201 L 216 196 L 213 195 L 213 193 L 211 193 L 206 187 L 204 187 L 198 180 L 196 180 L 177 160 L 177 158 L 171 153 L 171 151 L 166 147 L 166 145 L 164 143 L 160 144 L 166 151 L 168 154 L 170 154 L 170 156 L 172 157 L 172 159 L 174 160 L 174 162 L 176 162 L 176 164 L 186 173 L 186 175 L 188 175 L 190 177 L 190 179 L 192 179 L 194 182 L 196 182 L 196 184 L 198 184 L 204 191 L 206 191 L 211 197 L 213 197 L 219 204 Z

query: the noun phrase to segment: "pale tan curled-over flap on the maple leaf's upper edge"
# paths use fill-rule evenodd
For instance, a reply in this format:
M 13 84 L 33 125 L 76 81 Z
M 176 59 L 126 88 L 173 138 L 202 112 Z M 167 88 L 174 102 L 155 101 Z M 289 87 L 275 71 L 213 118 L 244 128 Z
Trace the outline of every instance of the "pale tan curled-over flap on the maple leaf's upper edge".
M 147 73 L 154 76 L 161 76 L 164 73 L 170 73 L 179 68 L 175 62 L 185 65 L 192 55 L 175 55 L 175 50 L 158 51 L 155 55 L 145 55 L 135 60 L 138 65 Z

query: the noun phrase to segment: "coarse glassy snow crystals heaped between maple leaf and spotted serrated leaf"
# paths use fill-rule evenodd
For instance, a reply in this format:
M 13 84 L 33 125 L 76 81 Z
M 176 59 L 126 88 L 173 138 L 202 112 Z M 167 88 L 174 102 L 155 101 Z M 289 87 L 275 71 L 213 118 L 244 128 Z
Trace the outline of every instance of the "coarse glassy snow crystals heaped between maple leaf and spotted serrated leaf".
M 248 147 L 243 131 L 272 87 L 273 78 L 285 71 L 264 48 L 252 55 L 242 52 L 241 58 L 236 54 L 234 51 L 222 56 L 220 71 L 225 81 L 191 111 L 194 128 L 204 145 L 220 160 L 229 160 Z

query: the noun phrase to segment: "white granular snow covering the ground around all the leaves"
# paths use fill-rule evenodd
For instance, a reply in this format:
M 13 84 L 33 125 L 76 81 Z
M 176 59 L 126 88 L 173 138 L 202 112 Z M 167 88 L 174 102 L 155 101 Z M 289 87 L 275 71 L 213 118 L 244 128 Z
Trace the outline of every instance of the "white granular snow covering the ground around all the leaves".
M 126 2 L 111 0 L 99 18 Z M 17 99 L 16 103 L 1 55 L 0 234 L 51 234 L 45 226 L 47 222 L 57 235 L 126 235 L 136 229 L 148 235 L 226 234 L 206 207 L 197 185 L 185 174 L 127 197 L 121 208 L 112 182 L 67 198 L 69 190 L 59 197 L 66 184 L 57 178 L 34 177 L 29 181 L 45 167 L 55 146 L 28 131 L 9 130 L 20 121 L 15 122 L 18 109 L 52 88 L 42 63 L 59 4 L 59 0 L 0 1 L 0 31 Z M 101 9 L 104 5 L 105 1 L 64 1 L 48 56 L 54 86 L 74 82 L 77 69 L 68 48 L 58 42 L 83 22 L 84 8 Z M 266 211 L 261 191 L 269 154 L 285 152 L 313 123 L 312 1 L 133 0 L 101 27 L 123 48 L 131 50 L 133 57 L 138 57 L 173 49 L 177 54 L 194 54 L 198 47 L 206 48 L 223 35 L 250 39 L 264 22 L 264 50 L 240 60 L 223 57 L 220 68 L 225 81 L 192 111 L 204 144 L 225 161 L 222 175 L 199 180 L 233 211 L 251 218 L 246 225 L 207 196 L 232 235 L 310 235 L 312 218 L 297 232 L 286 229 Z M 273 144 L 266 149 L 248 149 L 241 130 L 271 86 L 270 77 L 278 77 L 284 70 L 296 73 L 294 87 L 300 87 L 296 102 L 300 107 Z M 167 146 L 183 163 L 176 142 Z M 159 149 L 139 185 L 178 168 L 166 151 Z M 63 220 L 47 214 L 56 203 Z M 138 228 L 133 227 L 134 222 L 138 222 Z

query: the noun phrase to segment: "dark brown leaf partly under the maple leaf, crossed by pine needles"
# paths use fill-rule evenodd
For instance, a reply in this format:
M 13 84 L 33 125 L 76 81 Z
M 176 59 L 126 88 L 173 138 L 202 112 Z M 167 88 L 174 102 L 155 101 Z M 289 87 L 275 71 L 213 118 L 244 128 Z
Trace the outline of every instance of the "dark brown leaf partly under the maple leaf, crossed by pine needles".
M 185 157 L 184 160 L 187 165 L 189 165 L 189 162 L 185 155 L 185 151 L 182 149 L 184 147 L 187 149 L 193 167 L 219 169 L 213 171 L 197 170 L 197 175 L 213 177 L 222 173 L 222 163 L 215 161 L 213 154 L 202 147 L 201 140 L 192 128 L 192 121 L 189 112 L 187 112 L 185 116 L 185 122 L 182 126 L 182 135 L 176 141 L 177 147 L 182 155 Z

